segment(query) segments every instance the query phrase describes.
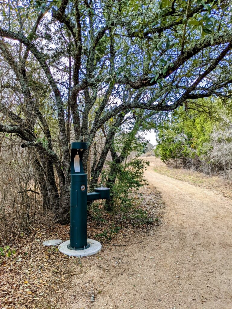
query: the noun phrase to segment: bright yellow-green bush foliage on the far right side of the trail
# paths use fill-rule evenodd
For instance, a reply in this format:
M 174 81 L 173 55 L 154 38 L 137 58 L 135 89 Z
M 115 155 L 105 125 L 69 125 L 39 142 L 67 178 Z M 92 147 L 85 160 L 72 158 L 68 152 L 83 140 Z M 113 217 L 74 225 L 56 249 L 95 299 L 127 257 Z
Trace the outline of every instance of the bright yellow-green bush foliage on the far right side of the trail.
M 171 159 L 204 160 L 211 151 L 212 133 L 226 128 L 230 112 L 219 100 L 198 100 L 199 109 L 178 108 L 171 116 L 157 126 L 155 155 L 162 161 Z

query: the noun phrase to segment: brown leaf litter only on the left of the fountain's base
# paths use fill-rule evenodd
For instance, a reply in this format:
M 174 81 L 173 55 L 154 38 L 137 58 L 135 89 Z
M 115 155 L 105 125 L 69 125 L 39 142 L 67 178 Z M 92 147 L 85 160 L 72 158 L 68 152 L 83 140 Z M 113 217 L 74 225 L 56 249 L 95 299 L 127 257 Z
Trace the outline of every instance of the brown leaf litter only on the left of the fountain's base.
M 14 255 L 1 258 L 2 309 L 38 308 L 41 300 L 50 306 L 58 303 L 59 290 L 69 280 L 68 257 L 57 248 L 42 245 L 43 240 L 56 235 L 68 239 L 69 226 L 56 225 L 51 231 L 34 229 L 29 237 L 17 239 Z

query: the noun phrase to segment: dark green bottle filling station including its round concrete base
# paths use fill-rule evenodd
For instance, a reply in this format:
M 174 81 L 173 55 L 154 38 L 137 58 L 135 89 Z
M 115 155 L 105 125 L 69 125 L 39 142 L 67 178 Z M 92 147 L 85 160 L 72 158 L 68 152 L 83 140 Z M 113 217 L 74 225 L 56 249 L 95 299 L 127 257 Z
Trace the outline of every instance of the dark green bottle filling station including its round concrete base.
M 87 143 L 71 143 L 70 240 L 58 247 L 69 256 L 89 256 L 101 251 L 101 243 L 87 239 L 87 201 L 110 198 L 110 189 L 103 186 L 87 193 L 87 174 L 82 165 L 87 148 Z

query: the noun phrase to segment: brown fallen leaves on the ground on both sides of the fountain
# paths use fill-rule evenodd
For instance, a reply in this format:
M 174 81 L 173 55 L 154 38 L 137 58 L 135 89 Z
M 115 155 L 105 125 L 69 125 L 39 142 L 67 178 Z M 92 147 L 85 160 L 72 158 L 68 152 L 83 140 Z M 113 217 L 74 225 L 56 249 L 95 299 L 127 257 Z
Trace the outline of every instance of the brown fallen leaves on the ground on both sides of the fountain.
M 141 199 L 140 209 L 145 210 L 149 218 L 160 218 L 163 205 L 159 193 L 153 187 L 145 187 L 144 196 Z M 97 220 L 88 220 L 88 238 L 100 240 L 107 246 L 124 247 L 134 233 L 144 234 L 159 220 L 153 220 L 151 224 L 135 226 L 135 218 L 110 216 L 101 212 L 103 217 Z M 133 219 L 130 219 L 133 218 Z M 137 219 L 136 219 L 137 220 Z M 97 236 L 97 237 L 95 237 Z M 69 239 L 69 225 L 56 224 L 52 228 L 35 227 L 29 236 L 21 233 L 12 243 L 5 244 L 14 248 L 14 254 L 9 257 L 1 256 L 1 281 L 0 281 L 0 307 L 1 309 L 33 309 L 33 308 L 59 308 L 62 303 L 62 291 L 71 287 L 73 263 L 69 263 L 73 257 L 65 256 L 57 247 L 44 247 L 43 241 L 48 239 Z M 110 244 L 111 243 L 111 244 Z M 7 247 L 8 248 L 8 247 Z M 152 257 L 151 257 L 152 258 Z M 94 256 L 93 259 L 101 259 Z M 79 258 L 73 262 L 82 264 Z M 117 263 L 119 263 L 118 261 Z M 86 270 L 87 272 L 88 270 Z M 91 286 L 91 291 L 88 284 Z M 101 290 L 94 290 L 91 283 L 81 288 L 81 295 L 86 302 L 93 303 Z

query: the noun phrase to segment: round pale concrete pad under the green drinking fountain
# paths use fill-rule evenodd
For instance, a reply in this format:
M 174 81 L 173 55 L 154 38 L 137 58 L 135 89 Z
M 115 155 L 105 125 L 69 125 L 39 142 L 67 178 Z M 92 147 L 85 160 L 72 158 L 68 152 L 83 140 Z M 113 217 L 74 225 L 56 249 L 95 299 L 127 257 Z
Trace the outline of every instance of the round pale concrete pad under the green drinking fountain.
M 67 240 L 64 243 L 61 243 L 59 245 L 58 249 L 59 249 L 60 252 L 66 254 L 66 255 L 78 256 L 78 257 L 93 255 L 93 254 L 96 254 L 96 253 L 101 251 L 101 243 L 99 243 L 98 241 L 87 238 L 87 243 L 90 244 L 90 247 L 88 247 L 87 249 L 70 250 L 70 249 L 67 248 L 67 245 L 70 244 L 70 240 Z

